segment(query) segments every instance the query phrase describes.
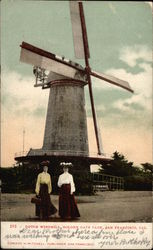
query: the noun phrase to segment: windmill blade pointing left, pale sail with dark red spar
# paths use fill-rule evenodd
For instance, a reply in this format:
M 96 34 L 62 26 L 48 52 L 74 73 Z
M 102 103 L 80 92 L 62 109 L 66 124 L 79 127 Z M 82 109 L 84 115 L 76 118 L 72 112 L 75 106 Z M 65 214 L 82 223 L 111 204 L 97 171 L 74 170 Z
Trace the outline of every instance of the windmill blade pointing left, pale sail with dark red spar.
M 74 78 L 78 71 L 84 73 L 84 68 L 81 65 L 59 59 L 56 55 L 31 44 L 23 42 L 21 48 L 21 62 L 38 66 L 69 78 Z

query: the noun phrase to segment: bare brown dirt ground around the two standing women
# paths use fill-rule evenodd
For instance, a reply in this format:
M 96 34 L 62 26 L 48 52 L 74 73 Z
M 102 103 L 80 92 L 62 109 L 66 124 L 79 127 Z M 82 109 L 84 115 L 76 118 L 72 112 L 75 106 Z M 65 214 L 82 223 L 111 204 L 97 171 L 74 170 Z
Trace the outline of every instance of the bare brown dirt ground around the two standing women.
M 30 200 L 34 194 L 1 194 L 2 221 L 39 221 Z M 51 196 L 58 208 L 58 196 Z M 151 222 L 152 192 L 114 191 L 77 196 L 79 222 Z M 61 221 L 58 214 L 50 221 Z

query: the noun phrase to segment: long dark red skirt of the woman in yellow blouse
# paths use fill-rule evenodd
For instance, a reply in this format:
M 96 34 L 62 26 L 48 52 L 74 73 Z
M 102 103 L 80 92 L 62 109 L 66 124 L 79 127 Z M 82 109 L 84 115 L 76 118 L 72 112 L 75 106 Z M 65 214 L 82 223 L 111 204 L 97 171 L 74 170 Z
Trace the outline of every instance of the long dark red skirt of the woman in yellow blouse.
M 39 195 L 41 198 L 41 205 L 36 205 L 36 216 L 39 216 L 42 219 L 47 219 L 50 215 L 57 212 L 56 207 L 54 207 L 51 202 L 47 184 L 40 185 Z

